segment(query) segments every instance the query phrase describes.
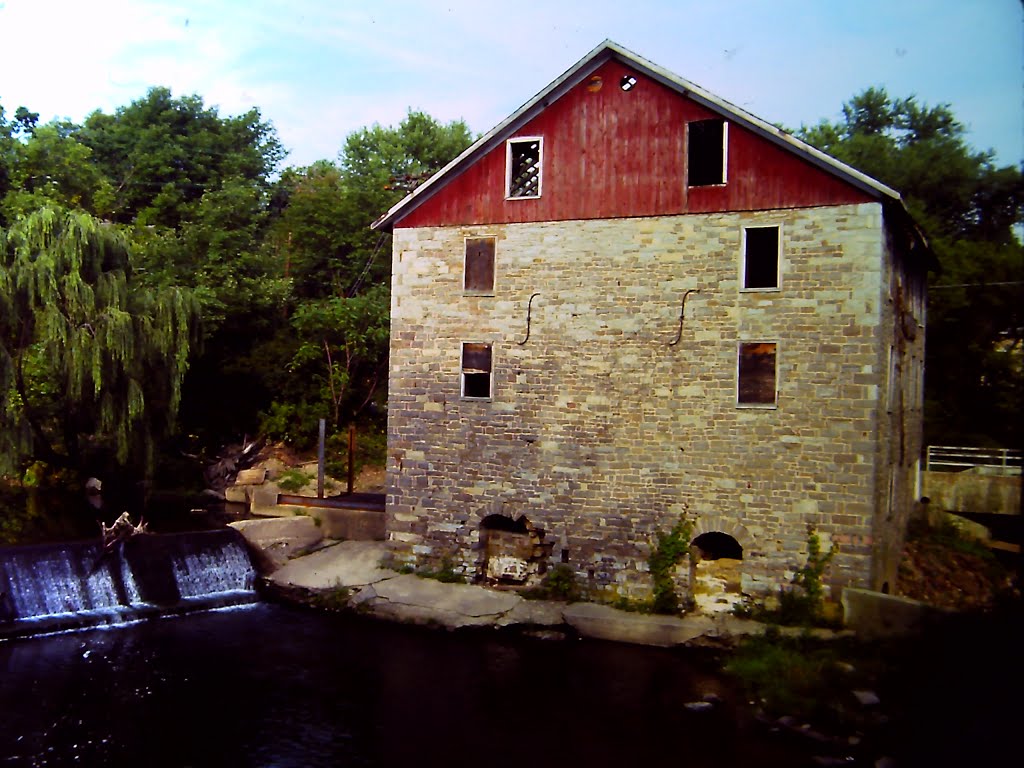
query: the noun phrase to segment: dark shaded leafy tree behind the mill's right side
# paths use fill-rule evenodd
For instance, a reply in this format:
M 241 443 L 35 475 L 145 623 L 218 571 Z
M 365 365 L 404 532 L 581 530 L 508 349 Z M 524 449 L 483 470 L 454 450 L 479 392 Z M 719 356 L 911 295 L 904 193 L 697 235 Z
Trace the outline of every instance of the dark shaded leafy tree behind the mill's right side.
M 925 439 L 1015 445 L 1024 408 L 1019 169 L 976 152 L 947 104 L 869 88 L 804 140 L 898 189 L 941 271 L 929 286 Z

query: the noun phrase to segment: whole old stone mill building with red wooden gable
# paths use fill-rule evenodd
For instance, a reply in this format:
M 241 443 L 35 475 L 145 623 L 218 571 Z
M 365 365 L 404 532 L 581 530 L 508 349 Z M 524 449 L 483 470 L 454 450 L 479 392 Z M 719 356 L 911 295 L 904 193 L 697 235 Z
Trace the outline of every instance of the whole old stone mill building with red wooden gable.
M 809 526 L 833 586 L 894 586 L 931 259 L 896 191 L 606 41 L 374 226 L 400 561 L 641 596 L 685 515 L 743 592 Z

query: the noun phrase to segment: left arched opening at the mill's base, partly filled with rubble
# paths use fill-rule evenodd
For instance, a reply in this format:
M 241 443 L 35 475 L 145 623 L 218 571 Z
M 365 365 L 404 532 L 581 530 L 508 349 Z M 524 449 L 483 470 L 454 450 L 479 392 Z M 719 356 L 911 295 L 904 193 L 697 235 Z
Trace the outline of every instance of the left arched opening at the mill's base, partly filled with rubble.
M 484 517 L 480 520 L 480 575 L 499 584 L 524 585 L 531 575 L 543 573 L 551 554 L 544 532 L 525 515 Z

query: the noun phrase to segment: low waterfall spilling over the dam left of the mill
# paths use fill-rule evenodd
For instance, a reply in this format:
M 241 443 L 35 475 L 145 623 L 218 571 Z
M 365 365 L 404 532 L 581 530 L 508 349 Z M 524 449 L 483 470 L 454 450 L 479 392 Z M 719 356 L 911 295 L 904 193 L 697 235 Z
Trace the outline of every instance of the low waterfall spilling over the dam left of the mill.
M 0 637 L 252 602 L 256 572 L 230 529 L 0 549 Z

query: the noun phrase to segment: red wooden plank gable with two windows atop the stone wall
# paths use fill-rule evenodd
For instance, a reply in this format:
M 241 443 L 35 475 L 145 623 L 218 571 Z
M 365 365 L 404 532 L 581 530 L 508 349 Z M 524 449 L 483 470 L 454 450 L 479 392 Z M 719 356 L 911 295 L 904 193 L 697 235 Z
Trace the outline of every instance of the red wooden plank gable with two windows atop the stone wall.
M 630 90 L 620 87 L 636 78 Z M 542 195 L 505 199 L 505 142 L 477 158 L 395 227 L 563 221 L 876 201 L 800 154 L 728 120 L 727 182 L 685 186 L 686 123 L 721 117 L 611 59 L 518 126 L 544 138 Z

